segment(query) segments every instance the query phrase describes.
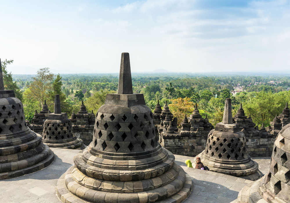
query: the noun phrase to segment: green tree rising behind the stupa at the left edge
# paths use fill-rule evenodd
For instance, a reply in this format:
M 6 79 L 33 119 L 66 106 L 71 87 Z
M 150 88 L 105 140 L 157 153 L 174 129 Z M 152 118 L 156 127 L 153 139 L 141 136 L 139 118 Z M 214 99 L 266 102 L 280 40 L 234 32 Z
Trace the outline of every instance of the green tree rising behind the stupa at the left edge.
M 13 63 L 13 60 L 5 59 L 5 61 L 1 61 L 4 89 L 14 90 L 15 97 L 17 97 L 18 99 L 20 99 L 20 101 L 22 101 L 23 95 L 20 88 L 17 86 L 16 81 L 13 82 L 11 72 L 8 73 L 8 71 L 6 70 L 6 66 L 12 63 Z

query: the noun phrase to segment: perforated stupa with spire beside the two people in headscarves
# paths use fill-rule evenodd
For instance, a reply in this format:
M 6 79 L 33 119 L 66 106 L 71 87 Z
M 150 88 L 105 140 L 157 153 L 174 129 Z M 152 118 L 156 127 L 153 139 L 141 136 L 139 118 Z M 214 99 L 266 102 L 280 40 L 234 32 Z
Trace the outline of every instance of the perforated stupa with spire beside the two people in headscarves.
M 257 180 L 262 174 L 246 147 L 244 133 L 233 123 L 231 99 L 227 98 L 222 122 L 209 132 L 206 148 L 197 157 L 210 171 Z

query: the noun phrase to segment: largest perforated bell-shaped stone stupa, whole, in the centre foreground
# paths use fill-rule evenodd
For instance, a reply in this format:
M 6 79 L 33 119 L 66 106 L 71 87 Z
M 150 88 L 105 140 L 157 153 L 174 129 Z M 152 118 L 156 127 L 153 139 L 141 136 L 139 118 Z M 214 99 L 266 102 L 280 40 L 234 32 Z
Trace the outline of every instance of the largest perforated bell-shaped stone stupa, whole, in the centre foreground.
M 130 59 L 122 53 L 118 94 L 97 112 L 93 140 L 59 179 L 63 202 L 182 202 L 191 178 L 160 146 L 143 94 L 133 94 Z

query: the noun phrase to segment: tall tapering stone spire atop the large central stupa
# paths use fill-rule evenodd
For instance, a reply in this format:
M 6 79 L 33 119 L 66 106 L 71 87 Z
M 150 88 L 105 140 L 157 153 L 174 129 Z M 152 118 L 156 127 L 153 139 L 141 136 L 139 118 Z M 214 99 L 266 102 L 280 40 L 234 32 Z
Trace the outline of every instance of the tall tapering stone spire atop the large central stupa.
M 129 53 L 122 53 L 121 56 L 118 94 L 133 94 Z

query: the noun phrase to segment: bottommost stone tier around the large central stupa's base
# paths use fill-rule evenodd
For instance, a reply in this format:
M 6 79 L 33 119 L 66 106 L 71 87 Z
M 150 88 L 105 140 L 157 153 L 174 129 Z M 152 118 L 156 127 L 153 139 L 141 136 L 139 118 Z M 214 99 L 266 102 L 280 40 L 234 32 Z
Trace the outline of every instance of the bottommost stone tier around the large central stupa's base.
M 136 184 L 132 183 L 132 188 L 136 190 L 134 193 L 111 193 L 104 191 L 96 191 L 93 189 L 86 188 L 81 184 L 75 182 L 72 176 L 72 169 L 74 166 L 71 166 L 66 173 L 64 173 L 57 182 L 57 195 L 62 202 L 65 203 L 120 203 L 120 202 L 164 202 L 164 203 L 173 203 L 173 202 L 182 202 L 190 194 L 192 189 L 191 177 L 186 174 L 183 169 L 178 166 L 180 172 L 179 176 L 164 186 L 158 187 L 156 189 L 148 191 L 140 191 L 144 186 L 138 185 L 141 181 L 135 181 Z M 184 183 L 182 181 L 184 180 Z M 150 179 L 149 179 L 150 180 Z M 152 180 L 152 179 L 151 179 Z M 118 184 L 111 182 L 115 189 L 118 187 Z M 154 182 L 153 182 L 154 184 Z M 92 187 L 94 187 L 92 183 Z M 106 186 L 104 186 L 106 187 Z M 110 187 L 110 186 L 108 186 Z M 135 189 L 136 187 L 136 189 Z M 70 188 L 70 191 L 68 190 Z M 122 188 L 120 188 L 121 190 Z M 140 192 L 137 192 L 137 191 Z M 176 192 L 176 191 L 179 192 Z M 86 200 L 84 200 L 86 199 Z

